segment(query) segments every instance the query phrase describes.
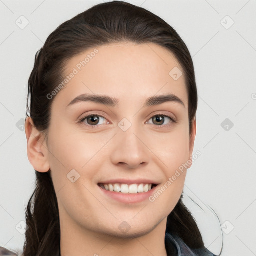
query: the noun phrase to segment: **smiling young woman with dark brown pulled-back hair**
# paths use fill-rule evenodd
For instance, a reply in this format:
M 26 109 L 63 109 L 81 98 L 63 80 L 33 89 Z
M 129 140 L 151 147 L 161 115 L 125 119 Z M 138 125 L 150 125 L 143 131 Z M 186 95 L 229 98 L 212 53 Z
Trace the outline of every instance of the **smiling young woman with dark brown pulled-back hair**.
M 197 90 L 170 25 L 121 1 L 91 7 L 37 52 L 29 96 L 24 256 L 213 255 L 182 203 Z

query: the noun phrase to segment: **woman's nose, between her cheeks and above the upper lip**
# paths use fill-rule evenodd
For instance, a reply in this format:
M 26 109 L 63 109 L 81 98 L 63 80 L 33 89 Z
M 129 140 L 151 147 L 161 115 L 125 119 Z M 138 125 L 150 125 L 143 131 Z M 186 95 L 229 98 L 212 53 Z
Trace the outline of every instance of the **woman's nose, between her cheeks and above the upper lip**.
M 149 162 L 150 150 L 146 146 L 146 138 L 135 125 L 123 131 L 119 129 L 114 136 L 111 162 L 115 165 L 125 165 L 129 169 L 137 168 L 140 164 Z

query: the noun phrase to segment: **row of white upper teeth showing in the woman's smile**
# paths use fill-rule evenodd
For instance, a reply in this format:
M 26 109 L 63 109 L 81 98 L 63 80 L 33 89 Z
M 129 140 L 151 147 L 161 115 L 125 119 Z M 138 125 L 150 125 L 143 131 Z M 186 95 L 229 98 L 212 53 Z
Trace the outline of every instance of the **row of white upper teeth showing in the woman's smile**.
M 100 187 L 108 191 L 121 193 L 143 193 L 151 190 L 152 184 L 100 184 Z

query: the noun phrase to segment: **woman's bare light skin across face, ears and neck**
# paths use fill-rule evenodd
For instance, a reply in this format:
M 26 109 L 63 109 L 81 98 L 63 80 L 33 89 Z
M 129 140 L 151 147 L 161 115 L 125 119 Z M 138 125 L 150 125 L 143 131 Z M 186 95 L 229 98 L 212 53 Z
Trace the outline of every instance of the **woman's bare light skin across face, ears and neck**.
M 93 49 L 70 59 L 65 75 Z M 196 120 L 189 135 L 184 75 L 178 80 L 169 75 L 175 66 L 182 68 L 170 51 L 153 43 L 115 43 L 97 49 L 95 57 L 55 96 L 47 139 L 26 118 L 28 159 L 37 171 L 51 170 L 62 256 L 165 256 L 166 220 L 180 198 L 186 170 L 154 202 L 117 202 L 106 197 L 97 184 L 110 178 L 148 178 L 160 188 L 189 160 Z M 83 93 L 118 98 L 119 107 L 94 102 L 67 107 Z M 169 101 L 142 108 L 150 96 L 167 93 L 179 97 L 184 105 Z M 90 128 L 88 119 L 78 123 L 88 114 L 103 116 L 100 126 Z M 156 114 L 169 115 L 176 122 L 165 117 L 157 124 L 152 118 Z M 131 123 L 125 132 L 118 126 L 123 118 Z M 80 174 L 75 183 L 66 176 L 72 169 Z M 118 228 L 123 221 L 130 226 L 127 232 Z

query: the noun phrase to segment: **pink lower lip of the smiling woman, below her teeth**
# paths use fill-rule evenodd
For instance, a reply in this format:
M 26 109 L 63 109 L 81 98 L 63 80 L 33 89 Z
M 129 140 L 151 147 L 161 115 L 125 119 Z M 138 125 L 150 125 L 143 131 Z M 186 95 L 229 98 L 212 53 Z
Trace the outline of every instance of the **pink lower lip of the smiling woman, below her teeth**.
M 154 192 L 157 186 L 153 187 L 151 190 L 147 192 L 142 192 L 142 193 L 111 192 L 109 190 L 103 189 L 100 186 L 98 187 L 106 196 L 109 196 L 116 201 L 119 201 L 122 203 L 138 203 L 148 199 L 148 197 L 152 195 L 152 193 Z

